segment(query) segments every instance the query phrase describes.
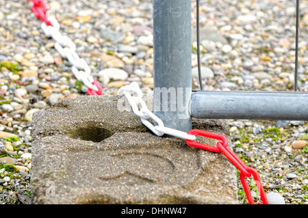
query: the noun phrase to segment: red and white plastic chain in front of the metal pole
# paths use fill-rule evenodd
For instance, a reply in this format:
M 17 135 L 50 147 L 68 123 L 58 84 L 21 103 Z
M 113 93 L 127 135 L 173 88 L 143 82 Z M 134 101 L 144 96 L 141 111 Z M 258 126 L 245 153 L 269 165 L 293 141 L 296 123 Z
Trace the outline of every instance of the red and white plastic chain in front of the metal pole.
M 182 139 L 185 139 L 188 146 L 192 146 L 194 148 L 200 148 L 203 150 L 208 150 L 210 152 L 217 152 L 222 153 L 224 156 L 229 159 L 235 167 L 238 168 L 240 171 L 240 180 L 242 182 L 244 191 L 246 193 L 246 197 L 249 204 L 255 204 L 253 197 L 251 195 L 251 190 L 248 187 L 248 184 L 246 182 L 246 177 L 253 176 L 257 189 L 259 191 L 259 195 L 261 197 L 261 202 L 258 202 L 257 204 L 268 204 L 268 199 L 266 197 L 266 193 L 264 191 L 264 188 L 261 185 L 261 180 L 259 178 L 259 175 L 257 171 L 253 167 L 247 167 L 240 158 L 228 147 L 228 139 L 224 135 L 219 135 L 216 133 L 210 133 L 207 131 L 201 131 L 200 129 L 192 129 L 188 131 L 188 133 L 178 131 L 173 128 L 168 128 L 164 126 L 164 122 L 157 117 L 154 113 L 152 113 L 148 107 L 146 107 L 146 103 L 144 100 L 142 100 L 142 91 L 140 90 L 140 87 L 138 83 L 133 82 L 130 85 L 126 85 L 123 87 L 120 87 L 118 90 L 118 94 L 125 95 L 127 97 L 127 100 L 129 101 L 129 105 L 131 105 L 131 108 L 133 109 L 133 112 L 138 115 L 142 121 L 142 123 L 148 127 L 155 135 L 162 136 L 164 134 L 172 135 L 174 137 L 179 137 Z M 141 105 L 141 108 L 139 109 L 139 105 Z M 157 126 L 154 126 L 149 122 L 149 118 L 152 118 L 156 123 Z M 209 146 L 207 144 L 201 144 L 196 142 L 196 135 L 208 137 L 211 139 L 217 139 L 220 140 L 217 143 L 217 146 Z

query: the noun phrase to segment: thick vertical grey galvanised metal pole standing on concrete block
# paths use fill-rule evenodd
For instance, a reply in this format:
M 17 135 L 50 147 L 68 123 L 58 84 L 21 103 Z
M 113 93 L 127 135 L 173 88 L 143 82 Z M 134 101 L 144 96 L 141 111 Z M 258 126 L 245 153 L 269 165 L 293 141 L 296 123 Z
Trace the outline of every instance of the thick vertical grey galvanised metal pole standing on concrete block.
M 153 0 L 154 113 L 169 128 L 190 131 L 191 1 Z

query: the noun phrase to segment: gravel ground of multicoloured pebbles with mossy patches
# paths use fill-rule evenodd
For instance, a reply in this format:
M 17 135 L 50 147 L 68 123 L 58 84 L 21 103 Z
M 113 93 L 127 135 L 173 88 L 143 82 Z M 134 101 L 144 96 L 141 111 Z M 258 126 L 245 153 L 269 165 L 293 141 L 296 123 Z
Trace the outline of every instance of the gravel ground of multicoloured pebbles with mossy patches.
M 47 5 L 103 94 L 117 94 L 132 81 L 144 92 L 153 89 L 150 0 Z M 192 1 L 193 25 L 195 6 Z M 26 0 L 0 0 L 0 204 L 29 203 L 32 114 L 87 90 L 30 7 Z M 308 1 L 300 1 L 299 92 L 308 91 L 307 11 Z M 208 27 L 211 33 L 201 35 L 205 90 L 294 90 L 295 1 L 201 1 L 201 33 Z M 192 41 L 192 86 L 198 89 Z M 308 122 L 230 120 L 230 132 L 233 150 L 257 169 L 266 193 L 280 193 L 285 204 L 308 204 Z M 240 180 L 239 188 L 239 200 L 247 204 Z

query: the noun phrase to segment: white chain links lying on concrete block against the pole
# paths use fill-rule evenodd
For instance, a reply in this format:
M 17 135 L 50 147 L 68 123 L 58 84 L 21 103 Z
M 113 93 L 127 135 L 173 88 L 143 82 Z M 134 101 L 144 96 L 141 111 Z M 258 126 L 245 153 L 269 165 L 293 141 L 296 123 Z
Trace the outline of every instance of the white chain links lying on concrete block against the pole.
M 148 127 L 155 135 L 162 136 L 168 134 L 182 139 L 196 140 L 195 135 L 189 135 L 188 133 L 164 126 L 164 122 L 146 107 L 146 103 L 142 100 L 142 91 L 138 83 L 133 82 L 130 85 L 120 87 L 118 94 L 125 94 L 129 105 L 133 109 L 133 113 L 136 113 L 141 118 L 144 126 Z M 140 110 L 138 109 L 138 105 L 141 105 Z M 149 118 L 152 118 L 158 125 L 154 126 L 151 124 Z

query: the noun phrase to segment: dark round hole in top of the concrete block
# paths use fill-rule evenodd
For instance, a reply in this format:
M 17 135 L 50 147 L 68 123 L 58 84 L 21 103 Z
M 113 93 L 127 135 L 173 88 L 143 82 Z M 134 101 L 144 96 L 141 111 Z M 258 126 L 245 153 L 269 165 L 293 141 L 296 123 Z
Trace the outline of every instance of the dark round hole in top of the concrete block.
M 70 137 L 73 139 L 79 139 L 84 141 L 94 141 L 100 142 L 103 139 L 107 139 L 111 137 L 113 133 L 108 131 L 105 128 L 97 128 L 97 127 L 80 127 L 77 128 L 73 133 L 70 133 Z

